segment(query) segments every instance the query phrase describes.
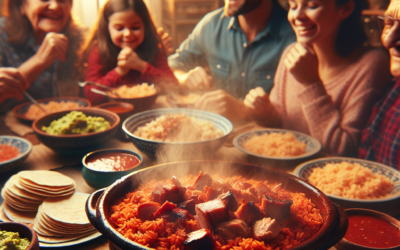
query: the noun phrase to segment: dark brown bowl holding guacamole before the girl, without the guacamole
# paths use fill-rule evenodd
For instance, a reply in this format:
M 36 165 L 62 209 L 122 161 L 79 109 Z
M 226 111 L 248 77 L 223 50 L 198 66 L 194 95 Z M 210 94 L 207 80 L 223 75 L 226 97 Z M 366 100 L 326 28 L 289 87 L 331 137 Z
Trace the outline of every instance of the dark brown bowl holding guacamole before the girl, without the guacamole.
M 42 131 L 43 126 L 49 126 L 52 121 L 71 112 L 70 110 L 60 111 L 43 116 L 33 122 L 32 128 L 38 140 L 57 153 L 82 156 L 101 147 L 103 143 L 113 138 L 118 130 L 120 119 L 114 112 L 99 108 L 81 108 L 76 111 L 82 111 L 87 116 L 104 117 L 110 123 L 110 127 L 101 132 L 84 135 L 49 135 Z

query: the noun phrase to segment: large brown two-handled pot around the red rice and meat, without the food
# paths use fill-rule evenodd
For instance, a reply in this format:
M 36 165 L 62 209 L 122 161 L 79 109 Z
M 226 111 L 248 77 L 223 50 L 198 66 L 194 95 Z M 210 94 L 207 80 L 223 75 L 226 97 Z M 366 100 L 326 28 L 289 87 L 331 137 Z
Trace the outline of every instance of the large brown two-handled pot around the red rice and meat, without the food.
M 198 175 L 199 171 L 218 174 L 221 177 L 242 175 L 257 180 L 271 180 L 285 183 L 289 191 L 305 193 L 307 198 L 320 209 L 323 225 L 312 238 L 291 249 L 328 249 L 335 245 L 344 236 L 347 230 L 347 216 L 340 206 L 334 205 L 321 191 L 305 181 L 271 169 L 245 163 L 223 161 L 189 161 L 158 165 L 131 173 L 114 182 L 107 189 L 98 190 L 87 200 L 86 213 L 95 226 L 113 244 L 115 249 L 150 249 L 136 242 L 124 238 L 110 223 L 111 206 L 127 192 L 134 191 L 141 183 L 151 179 L 178 179 L 187 174 Z

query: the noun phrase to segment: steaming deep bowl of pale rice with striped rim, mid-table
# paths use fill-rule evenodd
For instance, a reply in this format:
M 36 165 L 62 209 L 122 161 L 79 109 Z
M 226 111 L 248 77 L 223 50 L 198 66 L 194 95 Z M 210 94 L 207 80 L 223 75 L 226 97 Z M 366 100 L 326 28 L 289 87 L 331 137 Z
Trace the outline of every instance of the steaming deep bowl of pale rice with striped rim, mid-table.
M 232 132 L 225 117 L 196 109 L 154 109 L 128 117 L 122 128 L 151 159 L 204 158 L 215 153 Z

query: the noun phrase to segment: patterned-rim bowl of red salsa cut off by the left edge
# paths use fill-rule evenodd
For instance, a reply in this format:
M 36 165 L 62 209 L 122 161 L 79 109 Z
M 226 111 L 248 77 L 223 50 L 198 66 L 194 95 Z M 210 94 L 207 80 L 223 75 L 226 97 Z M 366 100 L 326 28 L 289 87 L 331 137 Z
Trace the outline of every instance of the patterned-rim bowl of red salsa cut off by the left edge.
M 0 173 L 9 171 L 24 162 L 32 144 L 17 136 L 0 136 Z

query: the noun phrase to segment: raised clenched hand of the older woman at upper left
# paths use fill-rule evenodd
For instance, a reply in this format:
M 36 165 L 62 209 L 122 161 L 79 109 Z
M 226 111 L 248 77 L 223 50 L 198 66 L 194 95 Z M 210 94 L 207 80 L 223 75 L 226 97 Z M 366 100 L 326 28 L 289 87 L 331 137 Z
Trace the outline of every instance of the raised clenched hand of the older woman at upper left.
M 69 41 L 65 35 L 49 32 L 36 52 L 35 57 L 39 63 L 46 65 L 46 67 L 52 65 L 57 58 L 61 62 L 65 62 L 68 44 Z

